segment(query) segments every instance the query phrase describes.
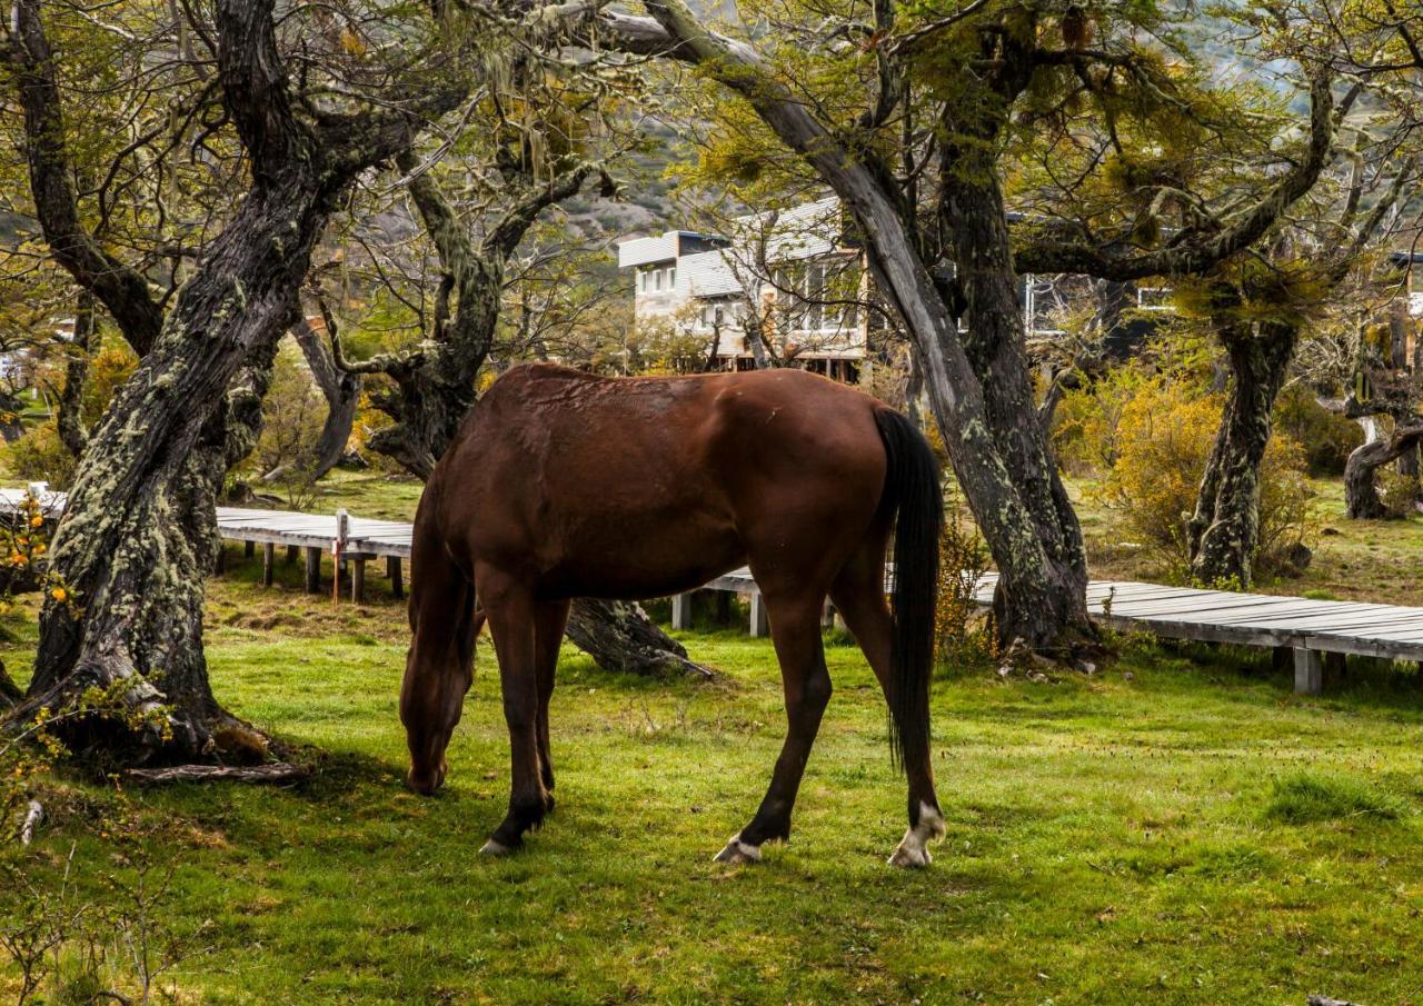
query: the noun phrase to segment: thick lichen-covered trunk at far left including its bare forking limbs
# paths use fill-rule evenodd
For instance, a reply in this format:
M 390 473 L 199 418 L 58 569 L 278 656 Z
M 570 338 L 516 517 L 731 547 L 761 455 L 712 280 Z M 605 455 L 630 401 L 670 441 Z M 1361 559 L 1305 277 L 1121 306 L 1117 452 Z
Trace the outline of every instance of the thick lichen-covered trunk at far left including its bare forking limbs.
M 27 54 L 27 154 L 46 240 L 142 356 L 80 460 L 50 552 L 68 599 L 46 602 L 17 714 L 84 703 L 97 687 L 125 714 L 88 717 L 75 740 L 125 761 L 266 754 L 265 738 L 222 710 L 208 683 L 202 605 L 216 556 L 215 491 L 252 447 L 276 343 L 297 320 L 297 290 L 336 201 L 465 97 L 433 81 L 398 107 L 316 114 L 292 92 L 270 0 L 216 0 L 212 11 L 215 81 L 250 182 L 166 314 L 144 276 L 78 226 L 51 142 L 63 137 L 53 55 L 34 3 L 17 3 L 13 18 Z

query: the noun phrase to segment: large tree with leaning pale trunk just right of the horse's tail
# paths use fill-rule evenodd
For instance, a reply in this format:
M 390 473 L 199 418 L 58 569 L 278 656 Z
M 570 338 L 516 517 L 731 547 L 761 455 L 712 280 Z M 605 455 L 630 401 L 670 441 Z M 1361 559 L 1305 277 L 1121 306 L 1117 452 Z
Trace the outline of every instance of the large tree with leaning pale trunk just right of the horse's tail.
M 754 13 L 774 30 L 756 33 L 753 44 L 709 30 L 682 0 L 645 6 L 650 18 L 591 14 L 589 37 L 693 64 L 740 95 L 763 128 L 739 121 L 733 132 L 744 141 L 716 162 L 751 178 L 808 166 L 854 219 L 871 275 L 912 339 L 955 474 L 999 569 L 1000 635 L 1039 649 L 1091 637 L 1081 532 L 1036 418 L 1017 272 L 1128 280 L 1202 270 L 1247 248 L 1322 165 L 1328 81 L 1313 88 L 1305 157 L 1294 165 L 1278 158 L 1284 171 L 1257 178 L 1248 198 L 1234 192 L 1228 216 L 1201 218 L 1171 201 L 1170 176 L 1150 169 L 1161 159 L 1154 151 L 1163 137 L 1175 135 L 1165 148 L 1177 151 L 1215 135 L 1218 120 L 1237 110 L 1184 47 L 1147 41 L 1178 24 L 1165 9 L 976 3 L 911 11 L 881 0 L 862 18 L 827 21 L 820 7 L 805 20 L 794 16 L 800 7 L 767 4 Z M 764 155 L 777 149 L 767 131 L 795 164 Z M 1033 144 L 1049 171 L 1076 174 L 1044 181 L 1010 171 L 1026 161 L 1019 148 Z M 1114 189 L 1117 206 L 1146 212 L 1124 219 L 1109 209 L 1086 228 L 1052 226 L 1064 219 L 1054 209 L 1063 194 L 1083 188 Z M 1015 233 L 1009 196 L 1039 191 L 1050 194 L 1037 199 L 1046 212 L 1030 208 L 1030 226 Z M 1177 229 L 1165 226 L 1168 216 Z

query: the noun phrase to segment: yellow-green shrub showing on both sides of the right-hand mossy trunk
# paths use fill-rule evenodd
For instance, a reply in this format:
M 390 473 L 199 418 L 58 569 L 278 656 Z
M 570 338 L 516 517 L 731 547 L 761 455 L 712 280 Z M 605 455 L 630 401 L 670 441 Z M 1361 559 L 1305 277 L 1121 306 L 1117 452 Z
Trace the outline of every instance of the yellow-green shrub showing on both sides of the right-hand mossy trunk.
M 1215 444 L 1222 401 L 1180 384 L 1146 383 L 1123 407 L 1117 460 L 1099 487 L 1126 529 L 1177 569 L 1190 562 L 1185 526 Z M 1312 491 L 1303 450 L 1276 433 L 1259 475 L 1259 546 L 1254 566 L 1268 573 L 1289 563 L 1312 529 Z

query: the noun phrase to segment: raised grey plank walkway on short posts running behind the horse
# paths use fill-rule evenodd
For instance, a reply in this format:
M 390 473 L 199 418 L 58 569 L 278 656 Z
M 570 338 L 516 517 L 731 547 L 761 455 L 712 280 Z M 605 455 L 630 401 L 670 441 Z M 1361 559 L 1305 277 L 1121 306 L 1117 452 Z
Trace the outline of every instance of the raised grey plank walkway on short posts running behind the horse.
M 63 492 L 31 487 L 44 504 L 46 514 L 58 515 L 64 508 Z M 18 505 L 24 489 L 0 489 L 0 512 Z M 276 549 L 285 546 L 287 559 L 306 554 L 306 589 L 322 589 L 322 555 L 340 545 L 342 565 L 350 563 L 351 598 L 364 591 L 366 562 L 384 558 L 386 573 L 394 595 L 403 596 L 401 563 L 410 558 L 413 528 L 397 521 L 370 521 L 349 517 L 297 514 L 276 509 L 218 508 L 218 529 L 226 541 L 240 541 L 246 554 L 263 546 L 263 582 L 270 586 Z M 992 603 L 995 573 L 978 586 L 978 602 Z M 748 569 L 737 569 L 707 583 L 704 591 L 734 592 L 750 598 L 751 635 L 768 630 L 766 606 Z M 1265 593 L 1198 591 L 1160 583 L 1093 582 L 1087 588 L 1093 616 L 1117 629 L 1146 630 L 1165 639 L 1192 639 L 1210 643 L 1268 647 L 1292 655 L 1295 690 L 1315 694 L 1323 686 L 1326 657 L 1346 655 L 1423 662 L 1423 608 L 1369 605 L 1343 600 L 1309 600 Z M 692 595 L 672 599 L 673 628 L 686 629 L 692 622 Z

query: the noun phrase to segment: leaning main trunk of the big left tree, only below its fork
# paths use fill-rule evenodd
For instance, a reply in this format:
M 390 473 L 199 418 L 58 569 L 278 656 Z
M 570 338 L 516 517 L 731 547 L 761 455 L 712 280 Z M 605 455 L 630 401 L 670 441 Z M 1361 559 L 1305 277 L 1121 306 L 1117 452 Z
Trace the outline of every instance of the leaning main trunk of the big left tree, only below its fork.
M 55 532 L 51 569 L 78 608 L 46 603 L 26 704 L 121 689 L 129 709 L 158 717 L 97 727 L 105 748 L 129 748 L 127 760 L 265 753 L 212 696 L 203 581 L 215 558 L 213 491 L 233 450 L 225 393 L 249 359 L 270 361 L 296 320 L 330 212 L 332 194 L 310 171 L 297 164 L 255 186 L 213 242 L 90 438 Z M 256 391 L 236 407 L 253 408 Z

